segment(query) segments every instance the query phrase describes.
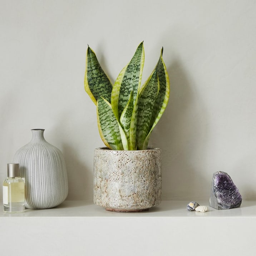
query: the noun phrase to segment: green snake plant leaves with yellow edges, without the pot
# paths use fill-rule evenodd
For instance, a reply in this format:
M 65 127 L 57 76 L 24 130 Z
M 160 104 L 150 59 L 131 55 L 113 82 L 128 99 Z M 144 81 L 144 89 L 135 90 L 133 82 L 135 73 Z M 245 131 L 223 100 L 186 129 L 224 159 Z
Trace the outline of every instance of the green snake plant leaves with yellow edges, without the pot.
M 169 78 L 162 55 L 163 48 L 156 67 L 141 86 L 142 42 L 112 85 L 96 54 L 88 46 L 84 88 L 97 106 L 100 137 L 108 148 L 147 149 L 149 136 L 169 99 Z

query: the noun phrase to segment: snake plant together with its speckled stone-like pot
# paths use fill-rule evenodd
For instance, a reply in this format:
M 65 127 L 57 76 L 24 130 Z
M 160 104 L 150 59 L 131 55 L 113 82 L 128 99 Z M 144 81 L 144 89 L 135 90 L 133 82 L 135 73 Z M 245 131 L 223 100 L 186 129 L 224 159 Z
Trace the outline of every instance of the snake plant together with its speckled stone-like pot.
M 144 46 L 114 84 L 88 46 L 85 91 L 97 107 L 105 148 L 94 152 L 94 203 L 109 211 L 144 211 L 161 201 L 161 150 L 148 148 L 153 128 L 166 109 L 169 78 L 163 48 L 153 72 L 141 86 Z

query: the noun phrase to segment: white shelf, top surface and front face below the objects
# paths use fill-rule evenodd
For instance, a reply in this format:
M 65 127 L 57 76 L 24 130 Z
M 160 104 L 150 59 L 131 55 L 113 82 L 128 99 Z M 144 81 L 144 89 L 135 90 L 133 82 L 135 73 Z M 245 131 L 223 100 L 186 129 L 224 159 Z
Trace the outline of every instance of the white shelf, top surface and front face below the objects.
M 256 201 L 205 213 L 187 211 L 187 203 L 163 201 L 138 213 L 108 212 L 84 201 L 19 214 L 1 208 L 2 252 L 14 255 L 16 248 L 24 248 L 19 255 L 183 256 L 198 255 L 199 250 L 206 255 L 245 255 L 247 248 L 247 256 L 255 255 Z

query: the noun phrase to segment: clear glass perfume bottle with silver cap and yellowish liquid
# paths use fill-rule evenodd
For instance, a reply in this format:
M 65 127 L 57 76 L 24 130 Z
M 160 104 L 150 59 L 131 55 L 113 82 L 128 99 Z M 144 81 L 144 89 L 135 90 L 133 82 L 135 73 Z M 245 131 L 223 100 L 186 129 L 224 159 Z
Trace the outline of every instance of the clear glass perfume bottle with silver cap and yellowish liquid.
M 25 210 L 25 186 L 20 177 L 18 163 L 8 163 L 8 177 L 3 183 L 4 212 L 18 213 Z

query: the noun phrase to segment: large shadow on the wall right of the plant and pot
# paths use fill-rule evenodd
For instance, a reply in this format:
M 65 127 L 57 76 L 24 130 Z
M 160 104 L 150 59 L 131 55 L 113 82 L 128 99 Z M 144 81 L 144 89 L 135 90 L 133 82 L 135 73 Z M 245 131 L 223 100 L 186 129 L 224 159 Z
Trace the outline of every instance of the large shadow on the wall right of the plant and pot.
M 207 149 L 204 105 L 178 60 L 167 71 L 169 105 L 152 134 L 152 143 L 162 149 L 162 199 L 208 200 L 211 177 L 202 175 Z

